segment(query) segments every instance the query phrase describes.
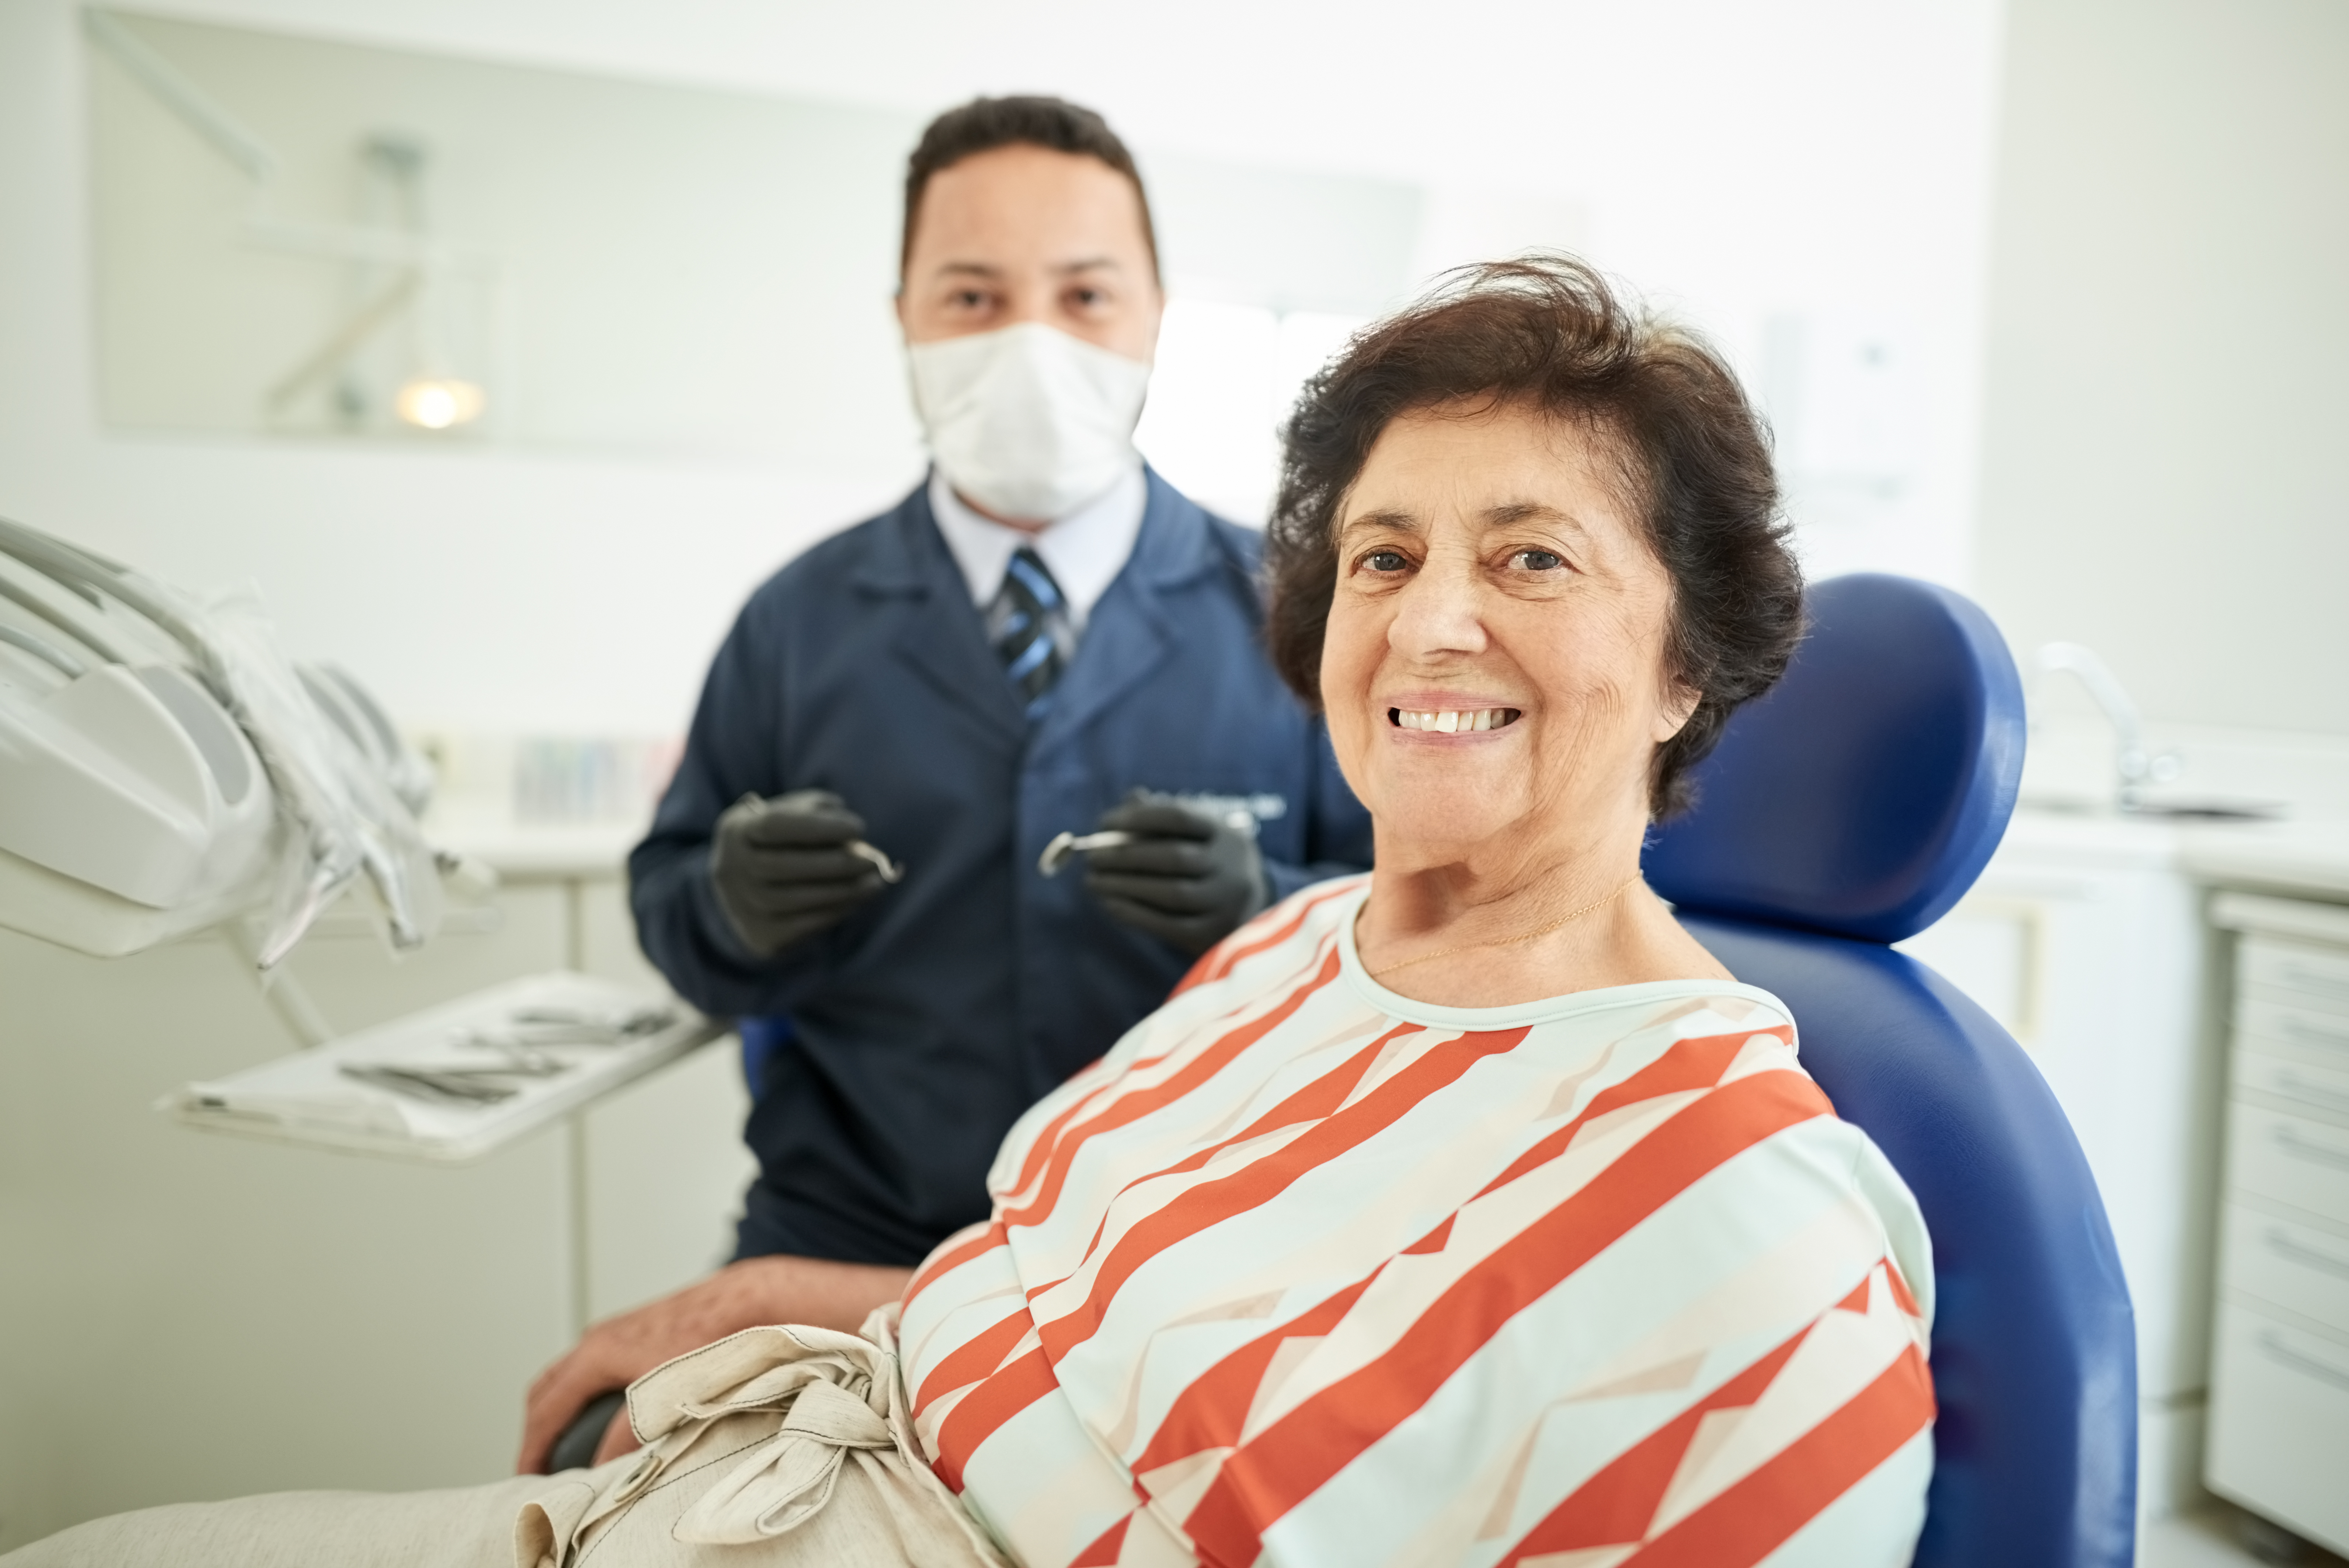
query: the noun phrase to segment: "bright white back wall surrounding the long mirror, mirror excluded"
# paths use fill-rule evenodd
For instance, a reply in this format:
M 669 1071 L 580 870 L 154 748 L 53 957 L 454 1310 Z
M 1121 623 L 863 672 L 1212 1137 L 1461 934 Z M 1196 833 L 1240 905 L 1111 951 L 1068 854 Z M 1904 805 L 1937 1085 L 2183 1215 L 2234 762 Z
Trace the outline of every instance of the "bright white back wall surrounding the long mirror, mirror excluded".
M 1569 0 L 1440 24 L 1395 0 L 1057 0 L 987 28 L 935 0 L 148 9 L 916 113 L 1055 89 L 1144 155 L 1412 181 L 1431 263 L 1576 228 L 1757 376 L 1771 322 L 1891 331 L 1914 458 L 1865 494 L 1825 484 L 1799 508 L 1806 548 L 1823 569 L 1968 571 L 1997 0 Z M 298 654 L 350 665 L 411 724 L 674 731 L 742 592 L 911 477 L 106 430 L 82 108 L 66 0 L 9 0 L 0 512 L 197 588 L 256 581 Z

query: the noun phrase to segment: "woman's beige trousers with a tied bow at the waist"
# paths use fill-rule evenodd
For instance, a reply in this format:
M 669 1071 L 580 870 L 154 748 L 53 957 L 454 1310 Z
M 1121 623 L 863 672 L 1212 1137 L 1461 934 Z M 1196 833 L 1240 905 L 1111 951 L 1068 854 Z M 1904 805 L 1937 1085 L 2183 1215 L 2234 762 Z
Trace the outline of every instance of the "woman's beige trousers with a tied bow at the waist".
M 94 1519 L 5 1568 L 1005 1568 L 930 1474 L 897 1309 L 745 1328 L 639 1378 L 644 1448 L 442 1493 L 277 1493 Z M 745 1547 L 763 1547 L 747 1552 Z

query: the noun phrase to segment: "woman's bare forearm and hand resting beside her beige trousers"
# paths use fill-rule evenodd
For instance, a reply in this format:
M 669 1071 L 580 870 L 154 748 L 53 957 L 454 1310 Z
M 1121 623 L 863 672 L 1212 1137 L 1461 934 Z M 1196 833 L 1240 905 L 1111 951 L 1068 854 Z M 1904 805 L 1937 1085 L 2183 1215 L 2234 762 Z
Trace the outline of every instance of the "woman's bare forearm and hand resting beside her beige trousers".
M 622 1389 L 662 1361 L 761 1324 L 813 1324 L 855 1333 L 864 1316 L 904 1293 L 914 1269 L 829 1258 L 745 1258 L 658 1302 L 604 1319 L 561 1361 L 538 1373 L 521 1415 L 514 1474 L 545 1474 L 554 1439 L 597 1394 Z M 627 1406 L 611 1418 L 594 1462 L 637 1448 Z

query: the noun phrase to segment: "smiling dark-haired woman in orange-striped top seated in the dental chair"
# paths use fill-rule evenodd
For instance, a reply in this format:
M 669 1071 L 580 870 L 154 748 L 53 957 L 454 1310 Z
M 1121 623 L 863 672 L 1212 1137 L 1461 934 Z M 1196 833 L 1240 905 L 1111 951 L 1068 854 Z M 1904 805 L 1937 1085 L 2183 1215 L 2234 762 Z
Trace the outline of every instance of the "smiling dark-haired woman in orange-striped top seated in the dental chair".
M 660 1368 L 590 1472 L 26 1563 L 1905 1563 L 1917 1206 L 1640 884 L 1799 635 L 1736 381 L 1579 263 L 1480 268 L 1313 381 L 1268 552 L 1377 872 L 1036 1105 L 902 1305 Z

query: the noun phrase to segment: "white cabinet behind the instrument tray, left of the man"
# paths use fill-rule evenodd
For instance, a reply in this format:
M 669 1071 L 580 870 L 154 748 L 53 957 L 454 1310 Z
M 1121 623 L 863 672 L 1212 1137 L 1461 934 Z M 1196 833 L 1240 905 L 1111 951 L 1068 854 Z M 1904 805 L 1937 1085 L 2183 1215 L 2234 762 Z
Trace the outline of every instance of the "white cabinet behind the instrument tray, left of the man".
M 334 1030 L 564 966 L 644 973 L 611 870 L 517 879 L 409 959 L 331 912 L 289 961 Z M 89 959 L 0 931 L 0 1552 L 157 1502 L 496 1479 L 587 1316 L 731 1246 L 731 1037 L 453 1168 L 153 1110 L 298 1044 L 221 936 Z

